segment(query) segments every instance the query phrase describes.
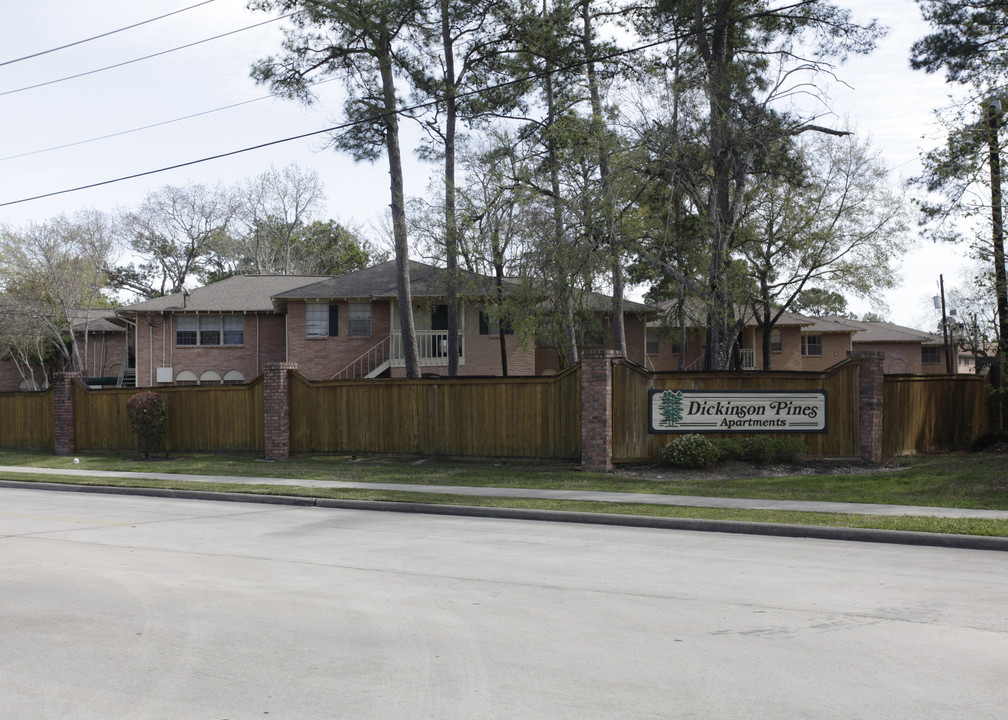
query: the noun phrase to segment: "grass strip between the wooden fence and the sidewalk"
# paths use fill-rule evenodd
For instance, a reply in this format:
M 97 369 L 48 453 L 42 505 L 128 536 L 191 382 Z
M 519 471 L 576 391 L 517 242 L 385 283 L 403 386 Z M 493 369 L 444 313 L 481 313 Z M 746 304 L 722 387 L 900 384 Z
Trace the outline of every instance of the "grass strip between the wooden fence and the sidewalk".
M 282 463 L 266 463 L 249 455 L 210 454 L 151 462 L 112 454 L 80 458 L 81 463 L 74 465 L 73 458 L 51 453 L 0 450 L 0 466 L 1008 509 L 1008 454 L 996 452 L 916 456 L 874 472 L 789 477 L 718 477 L 704 472 L 663 473 L 654 468 L 602 474 L 583 472 L 572 465 L 416 464 L 398 458 L 332 455 L 297 456 Z

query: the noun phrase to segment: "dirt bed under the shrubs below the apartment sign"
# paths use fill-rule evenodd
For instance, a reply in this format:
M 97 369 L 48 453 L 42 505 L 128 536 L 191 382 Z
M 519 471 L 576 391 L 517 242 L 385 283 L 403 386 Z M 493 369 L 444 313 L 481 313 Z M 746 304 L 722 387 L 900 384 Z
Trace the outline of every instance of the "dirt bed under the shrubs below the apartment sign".
M 729 460 L 703 468 L 676 468 L 670 465 L 623 466 L 615 475 L 642 480 L 725 480 L 731 478 L 772 478 L 794 475 L 877 475 L 905 469 L 899 463 L 869 463 L 851 458 L 815 458 L 796 463 L 757 465 Z

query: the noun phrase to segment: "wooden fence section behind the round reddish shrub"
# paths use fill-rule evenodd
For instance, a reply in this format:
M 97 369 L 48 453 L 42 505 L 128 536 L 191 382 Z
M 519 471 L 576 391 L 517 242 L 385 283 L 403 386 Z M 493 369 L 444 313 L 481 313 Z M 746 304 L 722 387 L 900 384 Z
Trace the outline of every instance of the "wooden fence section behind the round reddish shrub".
M 126 403 L 143 388 L 90 390 L 74 385 L 79 450 L 130 451 L 136 440 Z M 168 452 L 259 452 L 265 449 L 263 381 L 247 385 L 159 387 L 168 414 Z

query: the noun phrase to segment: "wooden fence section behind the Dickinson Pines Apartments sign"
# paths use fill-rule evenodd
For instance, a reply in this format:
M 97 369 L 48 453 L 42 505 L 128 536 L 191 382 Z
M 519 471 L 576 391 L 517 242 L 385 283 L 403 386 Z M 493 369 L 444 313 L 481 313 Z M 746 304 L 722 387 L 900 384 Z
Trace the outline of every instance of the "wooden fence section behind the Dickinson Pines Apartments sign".
M 847 360 L 825 372 L 660 372 L 619 361 L 613 368 L 613 462 L 653 462 L 674 435 L 648 433 L 649 390 L 827 392 L 827 432 L 800 434 L 809 454 L 858 457 L 861 366 Z M 722 437 L 714 435 L 712 437 Z M 736 435 L 735 437 L 739 437 Z

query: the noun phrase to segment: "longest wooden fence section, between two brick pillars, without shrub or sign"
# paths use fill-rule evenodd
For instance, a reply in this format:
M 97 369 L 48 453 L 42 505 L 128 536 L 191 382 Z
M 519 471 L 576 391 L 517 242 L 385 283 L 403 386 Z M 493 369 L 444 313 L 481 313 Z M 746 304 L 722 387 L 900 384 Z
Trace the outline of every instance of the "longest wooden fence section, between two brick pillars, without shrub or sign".
M 290 381 L 290 451 L 581 459 L 581 368 L 554 377 Z

